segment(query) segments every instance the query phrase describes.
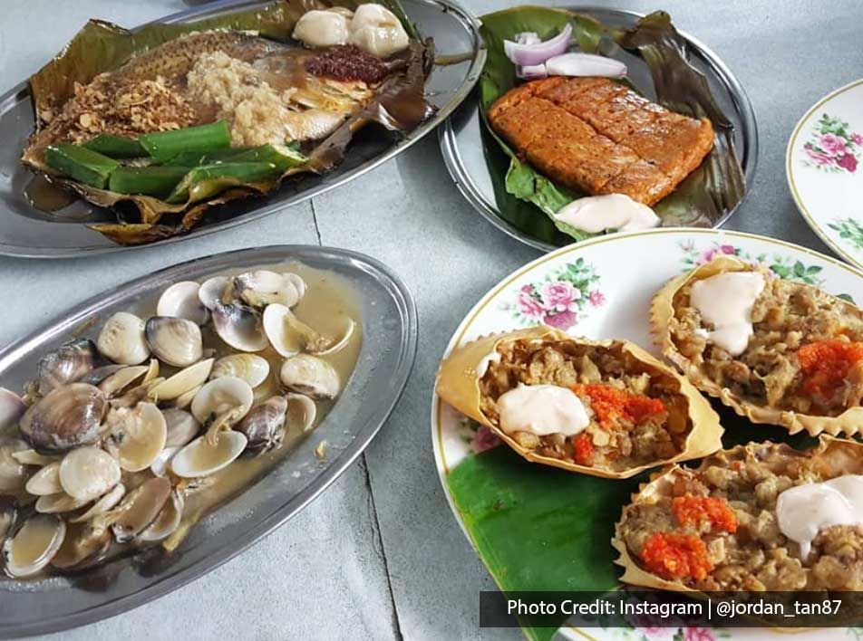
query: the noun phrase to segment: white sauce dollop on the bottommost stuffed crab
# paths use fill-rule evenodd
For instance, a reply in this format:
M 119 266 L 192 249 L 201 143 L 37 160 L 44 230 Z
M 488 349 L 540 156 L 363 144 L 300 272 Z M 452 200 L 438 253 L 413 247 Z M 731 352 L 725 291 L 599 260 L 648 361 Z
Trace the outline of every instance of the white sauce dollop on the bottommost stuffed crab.
M 823 483 L 797 485 L 776 501 L 779 529 L 800 544 L 803 560 L 819 531 L 833 525 L 863 525 L 863 476 L 845 474 Z

